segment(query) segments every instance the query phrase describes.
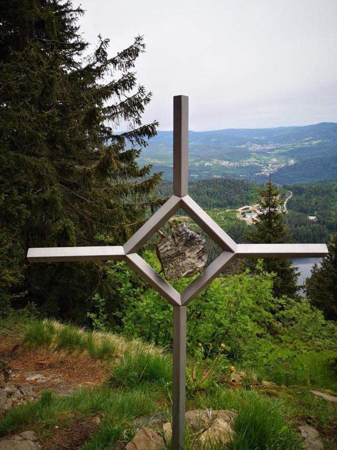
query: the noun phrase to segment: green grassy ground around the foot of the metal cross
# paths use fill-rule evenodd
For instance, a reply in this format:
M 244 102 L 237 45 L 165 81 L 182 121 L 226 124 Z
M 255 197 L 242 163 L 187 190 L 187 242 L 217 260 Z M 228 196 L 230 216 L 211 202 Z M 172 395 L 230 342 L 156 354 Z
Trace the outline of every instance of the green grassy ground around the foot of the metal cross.
M 44 442 L 53 436 L 55 426 L 68 429 L 79 420 L 99 416 L 99 426 L 81 448 L 103 450 L 113 448 L 116 441 L 131 439 L 135 431 L 134 417 L 170 411 L 172 363 L 169 353 L 141 341 L 128 341 L 112 333 L 85 331 L 50 320 L 9 319 L 2 321 L 0 332 L 7 336 L 19 335 L 22 345 L 30 348 L 86 352 L 95 360 L 104 359 L 108 367 L 106 382 L 100 387 L 80 389 L 74 395 L 63 397 L 47 391 L 38 401 L 11 408 L 0 421 L 1 436 L 35 429 Z M 273 377 L 278 381 L 275 383 L 247 370 L 241 383 L 232 387 L 226 382 L 209 383 L 207 389 L 188 386 L 187 408 L 237 410 L 231 450 L 300 450 L 302 439 L 297 427 L 305 423 L 315 426 L 325 448 L 332 450 L 336 448 L 336 403 L 315 398 L 310 389 L 331 389 L 336 379 L 333 373 L 320 369 L 322 361 L 318 356 L 316 359 L 308 355 L 299 357 L 304 370 L 308 367 L 316 373 L 309 384 L 307 376 L 303 377 L 306 383 L 297 379 L 286 385 L 281 375 Z M 200 448 L 197 436 L 188 429 L 186 448 Z

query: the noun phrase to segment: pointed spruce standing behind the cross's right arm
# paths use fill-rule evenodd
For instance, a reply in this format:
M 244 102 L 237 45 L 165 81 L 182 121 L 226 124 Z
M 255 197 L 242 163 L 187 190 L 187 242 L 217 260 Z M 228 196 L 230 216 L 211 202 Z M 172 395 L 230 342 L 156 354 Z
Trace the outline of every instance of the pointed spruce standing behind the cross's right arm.
M 284 223 L 284 212 L 281 212 L 281 190 L 269 178 L 265 187 L 259 190 L 259 215 L 254 219 L 254 227 L 248 232 L 248 240 L 253 243 L 287 243 L 290 236 Z M 289 258 L 266 258 L 263 267 L 268 272 L 275 272 L 273 293 L 277 297 L 297 294 L 299 272 L 292 267 Z

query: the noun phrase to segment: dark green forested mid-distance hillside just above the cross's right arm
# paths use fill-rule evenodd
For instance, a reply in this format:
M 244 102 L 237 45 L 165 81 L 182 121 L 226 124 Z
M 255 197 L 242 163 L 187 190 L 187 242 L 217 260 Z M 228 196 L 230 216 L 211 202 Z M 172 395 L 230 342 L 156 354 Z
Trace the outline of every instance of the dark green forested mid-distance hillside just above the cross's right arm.
M 239 211 L 228 211 L 258 200 L 261 184 L 237 179 L 212 178 L 190 183 L 189 194 L 237 242 L 247 241 L 249 223 L 237 217 Z M 285 221 L 295 242 L 328 242 L 337 232 L 337 181 L 283 185 L 281 199 L 287 201 Z M 162 181 L 158 186 L 162 196 L 172 195 L 172 183 Z M 310 220 L 309 216 L 316 216 Z M 220 251 L 212 242 L 211 253 Z

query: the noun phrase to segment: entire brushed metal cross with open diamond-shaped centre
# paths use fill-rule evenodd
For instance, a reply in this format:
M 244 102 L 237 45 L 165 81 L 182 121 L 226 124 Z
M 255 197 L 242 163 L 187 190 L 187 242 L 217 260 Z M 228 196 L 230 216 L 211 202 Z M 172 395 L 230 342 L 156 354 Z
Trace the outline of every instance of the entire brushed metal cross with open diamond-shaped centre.
M 222 248 L 218 256 L 181 293 L 164 280 L 136 252 L 153 233 L 182 208 Z M 29 262 L 97 261 L 122 259 L 173 305 L 172 448 L 184 448 L 186 393 L 186 306 L 237 257 L 320 257 L 325 244 L 237 244 L 188 195 L 188 97 L 173 97 L 173 195 L 123 246 L 29 248 Z

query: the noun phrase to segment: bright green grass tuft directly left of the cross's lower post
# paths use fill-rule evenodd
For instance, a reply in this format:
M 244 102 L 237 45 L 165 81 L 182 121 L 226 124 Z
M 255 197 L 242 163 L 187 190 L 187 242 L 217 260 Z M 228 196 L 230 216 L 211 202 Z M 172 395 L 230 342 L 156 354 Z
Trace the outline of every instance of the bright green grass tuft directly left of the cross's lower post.
M 172 381 L 172 357 L 142 350 L 126 352 L 110 371 L 110 384 L 136 387 L 144 382 L 167 384 Z

